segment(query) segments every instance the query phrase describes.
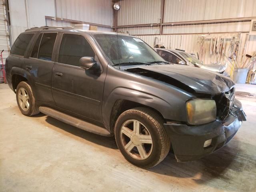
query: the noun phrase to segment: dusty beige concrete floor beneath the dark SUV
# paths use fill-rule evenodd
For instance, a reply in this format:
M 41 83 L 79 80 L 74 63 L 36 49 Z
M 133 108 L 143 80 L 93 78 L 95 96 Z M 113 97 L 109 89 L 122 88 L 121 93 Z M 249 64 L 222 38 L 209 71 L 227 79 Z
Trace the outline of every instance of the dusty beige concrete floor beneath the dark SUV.
M 0 84 L 0 191 L 256 191 L 256 85 L 237 85 L 247 121 L 224 148 L 177 163 L 169 153 L 143 170 L 128 163 L 114 138 L 39 114 L 20 113 Z

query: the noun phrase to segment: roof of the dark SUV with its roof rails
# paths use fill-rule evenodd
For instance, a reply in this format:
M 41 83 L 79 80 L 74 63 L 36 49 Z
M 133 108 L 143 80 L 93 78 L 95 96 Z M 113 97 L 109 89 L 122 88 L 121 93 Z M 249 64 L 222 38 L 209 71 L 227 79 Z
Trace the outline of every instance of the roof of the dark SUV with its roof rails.
M 31 32 L 83 32 L 83 33 L 88 33 L 88 34 L 113 34 L 113 35 L 125 35 L 129 36 L 127 34 L 121 34 L 121 33 L 116 33 L 116 32 L 108 32 L 108 31 L 93 31 L 93 30 L 82 30 L 74 27 L 63 27 L 63 26 L 42 26 L 42 27 L 34 27 L 25 30 L 24 33 L 31 33 Z

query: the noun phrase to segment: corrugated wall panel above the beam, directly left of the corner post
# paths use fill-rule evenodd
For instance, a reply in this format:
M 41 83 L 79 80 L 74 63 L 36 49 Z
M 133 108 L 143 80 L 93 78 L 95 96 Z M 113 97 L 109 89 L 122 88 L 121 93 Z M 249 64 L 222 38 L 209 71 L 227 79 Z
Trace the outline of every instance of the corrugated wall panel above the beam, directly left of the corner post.
M 56 0 L 59 18 L 112 26 L 111 0 Z

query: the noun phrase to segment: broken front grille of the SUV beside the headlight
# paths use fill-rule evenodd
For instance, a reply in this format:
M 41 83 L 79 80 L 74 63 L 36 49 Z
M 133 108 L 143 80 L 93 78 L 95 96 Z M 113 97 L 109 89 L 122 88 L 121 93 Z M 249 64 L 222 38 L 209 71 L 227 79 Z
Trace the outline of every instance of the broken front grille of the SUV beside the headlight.
M 217 118 L 220 120 L 224 120 L 232 110 L 235 94 L 234 88 L 230 89 L 227 92 L 223 92 L 222 94 L 216 95 L 213 97 L 216 102 L 217 107 Z

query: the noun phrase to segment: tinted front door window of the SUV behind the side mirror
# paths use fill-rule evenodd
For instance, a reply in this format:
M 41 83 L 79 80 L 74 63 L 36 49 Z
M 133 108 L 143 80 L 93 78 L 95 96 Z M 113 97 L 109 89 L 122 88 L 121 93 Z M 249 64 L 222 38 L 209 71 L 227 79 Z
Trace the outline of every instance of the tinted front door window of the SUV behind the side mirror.
M 63 34 L 60 44 L 59 63 L 79 66 L 81 57 L 95 57 L 88 41 L 81 35 Z

